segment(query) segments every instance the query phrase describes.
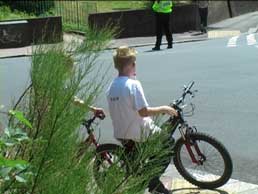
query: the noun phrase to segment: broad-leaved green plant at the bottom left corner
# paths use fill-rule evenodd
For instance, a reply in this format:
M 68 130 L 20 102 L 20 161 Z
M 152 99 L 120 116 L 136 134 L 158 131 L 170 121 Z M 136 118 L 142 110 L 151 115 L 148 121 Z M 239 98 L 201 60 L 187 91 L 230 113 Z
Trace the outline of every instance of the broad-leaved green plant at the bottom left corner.
M 31 124 L 18 111 L 10 111 L 18 119 L 19 124 L 31 128 Z M 25 160 L 13 155 L 21 145 L 28 143 L 29 137 L 20 128 L 11 126 L 4 129 L 0 136 L 0 192 L 2 194 L 16 192 L 26 188 L 26 183 L 33 177 L 31 166 Z

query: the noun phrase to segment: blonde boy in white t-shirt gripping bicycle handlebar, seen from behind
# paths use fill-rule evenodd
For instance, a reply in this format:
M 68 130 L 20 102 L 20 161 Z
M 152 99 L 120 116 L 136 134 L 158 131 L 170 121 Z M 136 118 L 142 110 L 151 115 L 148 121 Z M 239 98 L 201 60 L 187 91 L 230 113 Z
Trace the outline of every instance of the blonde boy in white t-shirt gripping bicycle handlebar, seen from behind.
M 114 128 L 114 137 L 123 145 L 144 140 L 149 134 L 160 131 L 150 116 L 168 114 L 177 116 L 170 106 L 150 107 L 143 88 L 136 75 L 136 51 L 126 46 L 119 47 L 113 55 L 116 77 L 107 90 L 109 112 Z M 168 194 L 169 191 L 159 180 L 153 178 L 149 191 Z

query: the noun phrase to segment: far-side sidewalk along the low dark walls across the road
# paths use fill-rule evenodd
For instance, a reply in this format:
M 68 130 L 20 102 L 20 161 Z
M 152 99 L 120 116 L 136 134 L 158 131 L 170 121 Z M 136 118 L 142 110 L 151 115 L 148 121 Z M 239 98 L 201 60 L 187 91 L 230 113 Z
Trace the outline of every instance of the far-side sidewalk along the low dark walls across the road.
M 221 22 L 208 26 L 208 33 L 201 34 L 200 32 L 186 32 L 180 34 L 173 34 L 174 43 L 184 43 L 193 41 L 202 41 L 213 38 L 238 36 L 241 32 L 258 32 L 258 12 L 247 13 L 238 17 L 229 18 Z M 256 27 L 254 27 L 256 26 Z M 64 44 L 70 43 L 72 40 L 82 41 L 83 36 L 74 34 L 64 34 Z M 109 49 L 114 49 L 121 45 L 128 45 L 134 47 L 140 46 L 154 46 L 156 37 L 134 37 L 115 39 L 111 41 Z M 166 44 L 165 36 L 163 36 L 163 44 Z M 14 48 L 14 49 L 0 49 L 0 58 L 30 56 L 32 53 L 32 46 Z

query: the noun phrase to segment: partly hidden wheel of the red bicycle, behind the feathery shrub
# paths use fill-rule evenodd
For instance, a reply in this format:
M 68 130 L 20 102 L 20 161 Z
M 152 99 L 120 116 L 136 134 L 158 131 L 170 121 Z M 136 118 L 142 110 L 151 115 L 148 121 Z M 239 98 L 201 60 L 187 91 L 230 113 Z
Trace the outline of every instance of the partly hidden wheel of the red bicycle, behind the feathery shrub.
M 96 150 L 96 158 L 93 164 L 94 179 L 102 188 L 104 183 L 112 181 L 112 175 L 123 178 L 126 173 L 126 165 L 123 158 L 123 148 L 116 144 L 102 144 Z

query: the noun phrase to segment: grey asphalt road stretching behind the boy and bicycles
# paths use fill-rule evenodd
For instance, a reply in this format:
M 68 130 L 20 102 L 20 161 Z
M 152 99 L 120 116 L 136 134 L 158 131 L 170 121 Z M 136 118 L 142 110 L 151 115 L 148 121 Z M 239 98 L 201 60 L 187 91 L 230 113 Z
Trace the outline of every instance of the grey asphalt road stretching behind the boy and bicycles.
M 258 34 L 176 44 L 158 52 L 139 47 L 137 78 L 151 106 L 170 103 L 179 97 L 184 84 L 194 80 L 199 92 L 189 123 L 228 148 L 234 162 L 233 178 L 257 184 L 258 44 L 254 39 Z M 112 67 L 112 51 L 103 53 L 100 60 L 103 68 Z M 29 81 L 29 58 L 1 59 L 0 72 L 4 83 L 0 104 L 9 104 L 10 96 L 18 96 Z M 107 76 L 112 79 L 115 75 L 110 68 Z M 107 109 L 104 94 L 97 105 Z M 109 117 L 100 127 L 101 141 L 114 141 Z

